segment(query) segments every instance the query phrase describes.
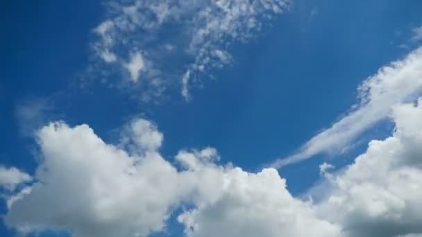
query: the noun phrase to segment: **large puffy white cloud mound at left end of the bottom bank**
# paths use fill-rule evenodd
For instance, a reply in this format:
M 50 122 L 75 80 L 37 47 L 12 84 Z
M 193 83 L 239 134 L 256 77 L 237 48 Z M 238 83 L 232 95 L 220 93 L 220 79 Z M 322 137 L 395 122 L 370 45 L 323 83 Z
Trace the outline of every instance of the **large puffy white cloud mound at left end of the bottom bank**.
M 67 229 L 83 237 L 162 230 L 182 190 L 176 168 L 157 152 L 130 156 L 87 125 L 53 123 L 38 138 L 44 155 L 38 182 L 10 203 L 8 225 L 24 232 Z

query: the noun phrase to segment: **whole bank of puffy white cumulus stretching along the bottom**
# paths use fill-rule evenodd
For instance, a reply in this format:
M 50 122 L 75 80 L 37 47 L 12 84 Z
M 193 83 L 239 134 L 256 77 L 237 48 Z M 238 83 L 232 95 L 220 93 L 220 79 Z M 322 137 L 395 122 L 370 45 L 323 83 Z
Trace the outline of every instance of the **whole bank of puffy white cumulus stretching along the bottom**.
M 397 105 L 396 132 L 371 141 L 340 173 L 329 173 L 318 202 L 293 197 L 267 168 L 218 165 L 214 148 L 180 150 L 170 164 L 162 134 L 134 120 L 121 144 L 87 125 L 51 123 L 38 132 L 44 159 L 37 182 L 9 200 L 6 223 L 22 232 L 65 229 L 73 236 L 148 236 L 171 213 L 186 236 L 398 237 L 422 234 L 422 101 Z

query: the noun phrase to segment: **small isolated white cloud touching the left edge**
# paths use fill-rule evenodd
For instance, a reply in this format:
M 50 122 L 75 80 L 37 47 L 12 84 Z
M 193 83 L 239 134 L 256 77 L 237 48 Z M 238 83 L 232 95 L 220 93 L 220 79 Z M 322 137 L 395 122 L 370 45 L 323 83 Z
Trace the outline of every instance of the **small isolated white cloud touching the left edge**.
M 32 177 L 15 167 L 6 168 L 0 166 L 0 186 L 12 191 L 18 184 L 30 182 Z

